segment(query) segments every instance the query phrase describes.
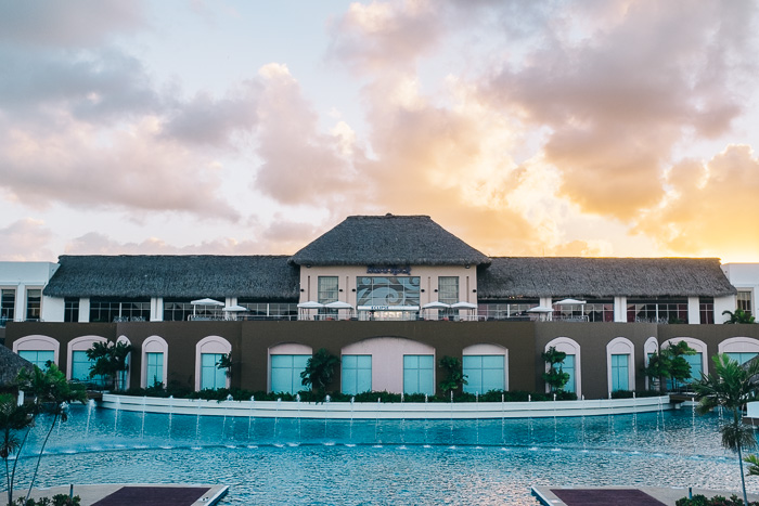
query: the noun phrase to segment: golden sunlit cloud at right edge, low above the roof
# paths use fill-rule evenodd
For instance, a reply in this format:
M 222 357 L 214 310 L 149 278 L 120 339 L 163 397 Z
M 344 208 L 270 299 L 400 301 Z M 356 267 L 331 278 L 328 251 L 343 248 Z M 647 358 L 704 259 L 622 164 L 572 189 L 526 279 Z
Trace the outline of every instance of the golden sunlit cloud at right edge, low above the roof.
M 671 194 L 636 231 L 676 255 L 755 258 L 759 250 L 759 159 L 747 145 L 730 145 L 708 163 L 672 168 Z

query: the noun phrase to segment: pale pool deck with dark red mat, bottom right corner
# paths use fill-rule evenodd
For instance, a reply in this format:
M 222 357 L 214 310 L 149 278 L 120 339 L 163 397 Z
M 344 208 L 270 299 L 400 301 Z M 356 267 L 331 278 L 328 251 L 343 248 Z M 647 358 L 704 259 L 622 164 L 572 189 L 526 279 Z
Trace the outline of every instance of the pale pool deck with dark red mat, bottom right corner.
M 692 492 L 707 497 L 733 494 L 741 497 L 739 491 L 693 489 Z M 532 495 L 544 506 L 674 506 L 687 494 L 687 489 L 657 486 L 532 486 Z M 748 494 L 748 501 L 759 501 L 759 494 Z

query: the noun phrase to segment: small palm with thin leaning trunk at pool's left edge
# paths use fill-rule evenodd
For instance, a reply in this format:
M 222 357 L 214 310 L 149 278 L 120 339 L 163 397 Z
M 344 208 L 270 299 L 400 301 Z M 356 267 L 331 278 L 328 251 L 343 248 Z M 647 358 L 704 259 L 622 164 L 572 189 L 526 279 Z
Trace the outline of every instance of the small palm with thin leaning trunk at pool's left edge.
M 50 364 L 50 367 L 46 371 L 40 369 L 36 365 L 31 373 L 27 369 L 21 369 L 16 384 L 20 390 L 24 390 L 26 394 L 34 399 L 30 408 L 35 419 L 42 413 L 48 414 L 50 417 L 50 428 L 37 455 L 37 465 L 29 482 L 29 490 L 26 493 L 26 499 L 28 501 L 37 479 L 44 446 L 48 444 L 55 424 L 59 419 L 66 421 L 68 419 L 68 405 L 73 402 L 83 404 L 87 401 L 87 392 L 83 386 L 70 384 L 55 364 Z

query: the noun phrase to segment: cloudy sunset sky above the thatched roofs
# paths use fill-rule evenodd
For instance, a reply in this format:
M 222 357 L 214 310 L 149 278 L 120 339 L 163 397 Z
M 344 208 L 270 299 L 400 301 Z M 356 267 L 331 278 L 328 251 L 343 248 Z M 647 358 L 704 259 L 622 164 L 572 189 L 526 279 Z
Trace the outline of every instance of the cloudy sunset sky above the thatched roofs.
M 758 10 L 0 0 L 0 260 L 292 255 L 389 212 L 757 262 Z

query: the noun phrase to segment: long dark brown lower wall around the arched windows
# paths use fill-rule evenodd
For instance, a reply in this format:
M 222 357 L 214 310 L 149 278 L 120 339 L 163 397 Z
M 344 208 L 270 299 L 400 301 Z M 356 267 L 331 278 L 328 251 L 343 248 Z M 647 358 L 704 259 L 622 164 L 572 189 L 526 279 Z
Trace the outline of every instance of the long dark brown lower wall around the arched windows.
M 549 341 L 568 337 L 581 347 L 582 393 L 587 399 L 608 395 L 606 345 L 625 337 L 635 347 L 635 388 L 645 388 L 644 345 L 649 337 L 659 342 L 670 338 L 692 337 L 707 343 L 709 355 L 717 353 L 720 341 L 730 337 L 759 339 L 759 325 L 656 325 L 645 323 L 567 323 L 567 322 L 133 322 L 133 323 L 9 323 L 5 346 L 22 337 L 40 334 L 61 342 L 60 366 L 67 366 L 68 342 L 80 336 L 95 335 L 108 340 L 126 336 L 134 346 L 130 381 L 140 385 L 142 342 L 150 336 L 164 338 L 169 346 L 169 382 L 194 388 L 195 345 L 207 336 L 220 336 L 232 345 L 232 386 L 266 390 L 268 350 L 284 342 L 325 348 L 335 355 L 350 343 L 377 337 L 400 337 L 428 345 L 436 356 L 462 356 L 471 345 L 493 343 L 509 349 L 509 387 L 511 390 L 539 391 L 544 363 L 541 353 Z M 443 372 L 437 371 L 437 381 Z M 339 369 L 332 385 L 338 390 Z

